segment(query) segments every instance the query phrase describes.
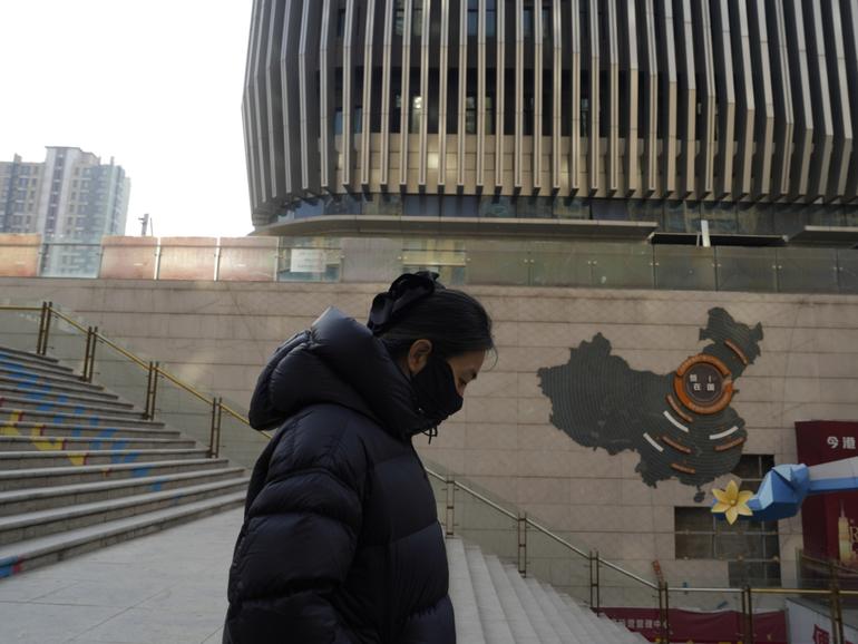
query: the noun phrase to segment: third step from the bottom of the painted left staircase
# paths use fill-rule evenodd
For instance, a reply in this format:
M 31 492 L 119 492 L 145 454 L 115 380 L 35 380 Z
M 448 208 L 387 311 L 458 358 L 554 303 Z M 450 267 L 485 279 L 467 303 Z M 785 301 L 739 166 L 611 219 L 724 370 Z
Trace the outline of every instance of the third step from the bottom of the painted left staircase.
M 69 507 L 75 504 L 91 504 L 148 492 L 175 490 L 189 485 L 243 478 L 245 475 L 246 471 L 241 467 L 224 467 L 143 478 L 11 490 L 0 492 L 0 516 L 12 516 Z

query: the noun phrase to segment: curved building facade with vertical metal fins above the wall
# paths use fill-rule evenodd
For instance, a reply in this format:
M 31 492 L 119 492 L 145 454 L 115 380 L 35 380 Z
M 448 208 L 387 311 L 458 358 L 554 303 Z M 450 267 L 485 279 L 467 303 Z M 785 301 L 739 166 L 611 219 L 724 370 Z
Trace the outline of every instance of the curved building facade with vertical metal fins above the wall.
M 255 0 L 254 224 L 854 217 L 857 40 L 858 0 Z

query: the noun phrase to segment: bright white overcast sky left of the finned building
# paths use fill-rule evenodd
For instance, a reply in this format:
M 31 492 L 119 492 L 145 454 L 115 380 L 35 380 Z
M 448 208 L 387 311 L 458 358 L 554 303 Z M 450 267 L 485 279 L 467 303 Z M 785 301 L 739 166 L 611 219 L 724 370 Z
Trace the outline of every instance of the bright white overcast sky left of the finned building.
M 252 230 L 241 100 L 252 0 L 0 0 L 0 159 L 115 157 L 129 234 Z

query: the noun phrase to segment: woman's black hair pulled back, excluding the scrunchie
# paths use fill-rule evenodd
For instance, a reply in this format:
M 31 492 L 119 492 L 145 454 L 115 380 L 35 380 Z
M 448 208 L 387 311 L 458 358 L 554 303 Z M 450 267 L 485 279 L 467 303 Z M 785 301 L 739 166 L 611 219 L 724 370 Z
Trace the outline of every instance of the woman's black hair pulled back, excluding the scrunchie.
M 467 293 L 452 289 L 439 289 L 409 306 L 379 339 L 394 360 L 420 339 L 429 340 L 432 352 L 445 359 L 495 349 L 486 309 Z

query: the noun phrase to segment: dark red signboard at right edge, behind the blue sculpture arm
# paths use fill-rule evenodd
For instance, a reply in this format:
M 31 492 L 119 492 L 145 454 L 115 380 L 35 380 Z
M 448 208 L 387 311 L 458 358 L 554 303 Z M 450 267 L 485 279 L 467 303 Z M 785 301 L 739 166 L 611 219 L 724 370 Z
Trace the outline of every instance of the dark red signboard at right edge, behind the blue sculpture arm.
M 858 456 L 858 422 L 796 423 L 798 460 L 807 466 Z M 801 506 L 805 553 L 858 567 L 858 491 L 809 497 Z

